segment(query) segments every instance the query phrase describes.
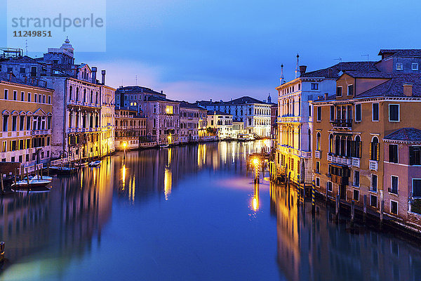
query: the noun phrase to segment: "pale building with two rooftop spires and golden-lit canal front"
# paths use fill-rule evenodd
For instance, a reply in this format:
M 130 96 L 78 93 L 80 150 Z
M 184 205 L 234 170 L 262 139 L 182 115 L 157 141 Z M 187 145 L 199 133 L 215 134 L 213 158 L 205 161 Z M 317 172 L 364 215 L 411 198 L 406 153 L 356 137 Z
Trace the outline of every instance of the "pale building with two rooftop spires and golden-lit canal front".
M 298 64 L 295 79 L 284 81 L 283 70 L 278 91 L 278 136 L 276 164 L 291 173 L 291 181 L 312 183 L 312 108 L 310 100 L 335 93 L 336 79 L 345 70 L 367 70 L 373 62 L 344 62 L 331 67 L 306 72 Z M 283 66 L 282 66 L 283 67 Z

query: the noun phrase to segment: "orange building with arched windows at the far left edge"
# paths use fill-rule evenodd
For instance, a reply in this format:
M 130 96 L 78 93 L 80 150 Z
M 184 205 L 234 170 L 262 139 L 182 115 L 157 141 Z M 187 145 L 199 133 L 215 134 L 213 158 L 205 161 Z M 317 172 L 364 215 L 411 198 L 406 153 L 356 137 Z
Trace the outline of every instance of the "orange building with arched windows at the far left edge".
M 34 79 L 0 72 L 1 151 L 4 162 L 29 166 L 51 157 L 53 90 Z

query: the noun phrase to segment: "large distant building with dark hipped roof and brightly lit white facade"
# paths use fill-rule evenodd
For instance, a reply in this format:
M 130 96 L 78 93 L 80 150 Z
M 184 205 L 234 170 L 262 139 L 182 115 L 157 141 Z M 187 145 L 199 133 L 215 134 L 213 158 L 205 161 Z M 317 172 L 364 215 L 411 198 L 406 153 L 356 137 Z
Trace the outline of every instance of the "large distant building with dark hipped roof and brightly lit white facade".
M 201 100 L 196 103 L 207 110 L 219 110 L 232 115 L 234 119 L 243 122 L 245 133 L 253 133 L 258 137 L 270 136 L 271 105 L 268 103 L 248 96 L 230 101 Z

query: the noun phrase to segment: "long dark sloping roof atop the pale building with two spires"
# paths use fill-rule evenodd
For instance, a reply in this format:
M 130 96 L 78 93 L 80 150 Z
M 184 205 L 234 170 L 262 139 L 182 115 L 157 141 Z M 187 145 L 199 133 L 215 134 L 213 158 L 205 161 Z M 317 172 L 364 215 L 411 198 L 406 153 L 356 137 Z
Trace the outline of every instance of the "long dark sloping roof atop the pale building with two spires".
M 375 67 L 374 61 L 368 62 L 342 62 L 337 63 L 331 67 L 323 68 L 322 70 L 315 70 L 312 72 L 305 72 L 300 77 L 323 77 L 323 78 L 338 78 L 340 72 L 346 71 L 379 71 Z

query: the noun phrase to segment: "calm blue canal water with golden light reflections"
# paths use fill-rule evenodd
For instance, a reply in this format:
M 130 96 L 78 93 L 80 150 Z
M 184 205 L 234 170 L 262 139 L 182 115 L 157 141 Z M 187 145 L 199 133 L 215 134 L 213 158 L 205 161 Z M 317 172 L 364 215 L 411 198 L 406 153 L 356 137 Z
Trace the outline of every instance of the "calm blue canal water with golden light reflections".
M 0 280 L 419 280 L 420 244 L 255 185 L 246 155 L 265 145 L 119 152 L 4 197 Z

